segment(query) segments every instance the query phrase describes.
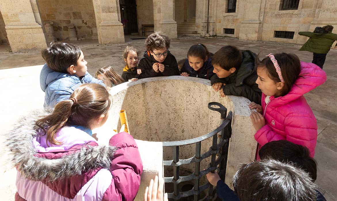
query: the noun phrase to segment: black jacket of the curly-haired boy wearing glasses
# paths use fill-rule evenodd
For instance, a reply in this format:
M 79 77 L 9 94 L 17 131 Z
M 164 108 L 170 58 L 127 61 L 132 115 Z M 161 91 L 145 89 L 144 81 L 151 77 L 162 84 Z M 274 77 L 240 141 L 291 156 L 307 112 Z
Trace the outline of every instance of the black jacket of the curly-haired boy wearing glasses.
M 168 53 L 165 60 L 162 62 L 165 68 L 163 72 L 157 73 L 152 68 L 154 63 L 159 63 L 156 61 L 149 52 L 145 52 L 143 58 L 139 61 L 137 73 L 139 74 L 138 78 L 152 78 L 159 76 L 178 76 L 179 68 L 176 58 Z

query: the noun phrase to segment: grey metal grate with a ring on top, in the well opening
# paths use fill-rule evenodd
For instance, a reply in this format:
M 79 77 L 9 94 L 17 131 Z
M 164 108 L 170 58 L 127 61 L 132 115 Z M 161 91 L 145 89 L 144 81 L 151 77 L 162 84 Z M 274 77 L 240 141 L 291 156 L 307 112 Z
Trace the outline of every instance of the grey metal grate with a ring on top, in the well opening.
M 198 195 L 202 192 L 206 192 L 206 196 L 200 200 L 213 200 L 215 196 L 215 189 L 213 185 L 209 182 L 200 186 L 200 178 L 209 173 L 213 172 L 219 167 L 219 176 L 221 180 L 224 181 L 226 173 L 226 163 L 228 156 L 228 144 L 229 138 L 232 134 L 232 117 L 233 113 L 230 111 L 227 115 L 227 108 L 217 102 L 211 102 L 208 104 L 210 110 L 214 110 L 220 113 L 220 126 L 217 127 L 214 131 L 189 140 L 174 141 L 174 142 L 163 142 L 163 147 L 172 147 L 173 148 L 173 160 L 164 161 L 164 167 L 172 166 L 173 167 L 173 177 L 164 177 L 165 183 L 173 184 L 173 193 L 168 193 L 168 198 L 179 200 L 180 198 L 189 197 L 194 195 L 194 201 L 198 200 Z M 227 115 L 227 116 L 226 116 Z M 209 151 L 201 153 L 201 142 L 213 138 L 212 146 Z M 179 146 L 195 144 L 195 155 L 189 159 L 179 159 Z M 218 156 L 216 158 L 216 156 Z M 200 171 L 200 162 L 207 157 L 211 157 L 211 163 L 204 170 Z M 194 172 L 188 176 L 179 176 L 179 166 L 185 164 L 195 164 Z M 186 192 L 179 192 L 179 183 L 184 181 L 191 181 L 194 183 L 194 187 Z M 208 189 L 208 190 L 207 190 Z

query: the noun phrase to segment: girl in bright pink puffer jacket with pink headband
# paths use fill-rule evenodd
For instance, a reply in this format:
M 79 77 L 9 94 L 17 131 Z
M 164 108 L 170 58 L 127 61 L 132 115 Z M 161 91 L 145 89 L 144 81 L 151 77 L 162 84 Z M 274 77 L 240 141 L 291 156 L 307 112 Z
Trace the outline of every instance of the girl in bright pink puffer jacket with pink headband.
M 250 115 L 257 151 L 270 141 L 288 140 L 308 147 L 314 157 L 317 122 L 303 94 L 323 84 L 325 72 L 315 64 L 300 62 L 295 54 L 281 53 L 257 59 L 257 75 L 262 106 L 249 104 L 257 111 Z

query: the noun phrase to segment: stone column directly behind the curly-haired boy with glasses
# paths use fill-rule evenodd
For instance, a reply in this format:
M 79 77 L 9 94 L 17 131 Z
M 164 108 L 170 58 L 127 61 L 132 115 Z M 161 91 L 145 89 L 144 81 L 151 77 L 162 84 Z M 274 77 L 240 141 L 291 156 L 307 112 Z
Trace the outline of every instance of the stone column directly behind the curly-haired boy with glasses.
M 161 31 L 169 38 L 177 38 L 173 0 L 153 0 L 154 31 Z

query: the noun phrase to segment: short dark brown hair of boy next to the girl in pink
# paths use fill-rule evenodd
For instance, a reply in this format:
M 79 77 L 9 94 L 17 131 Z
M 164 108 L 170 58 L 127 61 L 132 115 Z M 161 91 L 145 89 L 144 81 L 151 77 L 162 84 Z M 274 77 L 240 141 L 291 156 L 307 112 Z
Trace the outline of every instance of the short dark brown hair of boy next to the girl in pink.
M 242 52 L 234 46 L 220 48 L 212 57 L 212 65 L 218 65 L 225 70 L 239 68 L 242 63 Z

